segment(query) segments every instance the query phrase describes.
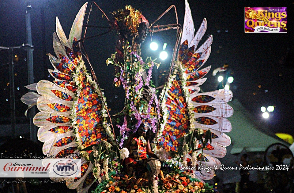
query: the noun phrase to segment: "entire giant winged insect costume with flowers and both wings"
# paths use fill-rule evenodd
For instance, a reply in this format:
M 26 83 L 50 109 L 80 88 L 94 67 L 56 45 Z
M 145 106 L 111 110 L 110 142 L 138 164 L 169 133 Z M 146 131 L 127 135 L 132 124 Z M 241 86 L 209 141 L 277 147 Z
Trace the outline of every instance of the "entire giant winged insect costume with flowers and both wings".
M 69 38 L 56 18 L 53 47 L 57 57 L 49 54 L 54 67 L 49 73 L 55 81 L 30 85 L 38 95 L 22 97 L 40 110 L 34 124 L 40 127 L 43 153 L 81 153 L 81 177 L 66 182 L 78 192 L 87 192 L 95 181 L 99 193 L 211 192 L 202 180 L 213 178 L 213 169 L 220 166 L 217 157 L 224 157 L 231 143 L 224 132 L 232 130 L 226 117 L 232 116 L 233 109 L 227 104 L 232 99 L 229 90 L 199 93 L 211 67 L 199 70 L 212 44 L 209 36 L 197 48 L 207 28 L 206 19 L 195 33 L 187 0 L 183 31 L 178 21 L 154 25 L 174 6 L 151 24 L 130 5 L 113 12 L 112 21 L 103 12 L 109 30 L 118 34 L 116 52 L 106 63 L 115 66 L 115 86 L 122 85 L 126 96 L 122 111 L 111 116 L 88 54 L 82 52 L 83 41 L 91 38 L 81 35 L 86 6 L 77 14 Z M 91 26 L 84 27 L 87 31 Z M 141 43 L 147 33 L 169 29 L 177 30 L 177 41 L 167 81 L 158 96 L 159 88 L 151 84 L 153 67 L 158 64 L 141 58 Z

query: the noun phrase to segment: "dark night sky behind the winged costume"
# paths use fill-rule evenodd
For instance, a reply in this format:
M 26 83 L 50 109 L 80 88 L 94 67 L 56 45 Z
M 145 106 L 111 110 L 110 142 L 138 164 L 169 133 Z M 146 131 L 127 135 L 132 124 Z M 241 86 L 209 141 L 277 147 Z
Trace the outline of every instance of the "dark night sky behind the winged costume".
M 35 81 L 41 79 L 52 80 L 48 78 L 48 72 L 45 71 L 43 63 L 43 45 L 41 33 L 41 17 L 40 8 L 46 4 L 47 0 L 32 0 L 34 9 L 32 10 L 32 41 L 34 50 L 34 70 Z M 53 9 L 45 10 L 45 35 L 46 35 L 46 52 L 54 53 L 52 48 L 52 34 L 55 31 L 55 17 L 58 16 L 65 34 L 68 35 L 70 27 L 74 21 L 80 7 L 86 1 L 77 0 L 51 0 L 56 5 Z M 212 52 L 204 67 L 212 65 L 212 69 L 223 66 L 224 63 L 230 65 L 230 69 L 234 72 L 234 82 L 231 84 L 231 90 L 234 97 L 241 101 L 247 110 L 249 110 L 256 120 L 265 121 L 262 118 L 261 106 L 275 105 L 275 110 L 271 113 L 269 120 L 269 128 L 273 132 L 286 132 L 294 134 L 293 130 L 293 94 L 294 94 L 294 76 L 293 61 L 292 65 L 285 63 L 287 49 L 290 49 L 289 57 L 294 54 L 294 33 L 293 33 L 293 16 L 294 2 L 291 1 L 189 1 L 194 19 L 196 30 L 205 17 L 208 22 L 208 29 L 204 36 L 213 34 Z M 179 23 L 183 23 L 185 1 L 97 1 L 97 4 L 104 10 L 109 18 L 112 18 L 110 12 L 123 8 L 124 5 L 131 4 L 135 8 L 140 9 L 142 14 L 152 23 L 161 13 L 163 13 L 170 5 L 177 8 Z M 288 7 L 288 33 L 244 33 L 244 7 Z M 89 6 L 87 12 L 89 10 Z M 102 18 L 102 14 L 93 9 L 94 13 L 90 16 L 90 24 L 107 26 L 107 22 Z M 164 16 L 159 24 L 175 23 L 175 14 L 171 10 Z M 0 1 L 0 46 L 15 46 L 25 43 L 25 3 L 21 0 L 1 0 Z M 220 33 L 217 32 L 220 30 Z M 225 32 L 228 30 L 228 33 Z M 103 30 L 90 29 L 89 34 L 95 35 L 103 32 Z M 173 44 L 175 43 L 175 31 L 160 32 L 154 34 L 152 39 L 159 43 L 162 48 L 164 42 L 168 43 L 167 51 L 171 55 Z M 85 43 L 92 64 L 101 88 L 105 89 L 105 95 L 108 100 L 111 113 L 121 110 L 123 106 L 123 90 L 122 88 L 114 88 L 112 80 L 114 78 L 114 69 L 112 66 L 106 66 L 105 60 L 115 52 L 116 34 L 110 33 L 99 38 L 92 39 Z M 202 40 L 202 43 L 203 41 Z M 149 50 L 150 35 L 146 38 L 142 45 L 142 57 L 147 56 L 158 58 L 158 52 Z M 220 48 L 221 46 L 221 48 Z M 291 54 L 292 53 L 292 54 Z M 15 63 L 15 87 L 16 89 L 16 105 L 17 116 L 24 116 L 26 105 L 21 104 L 19 98 L 27 92 L 23 86 L 27 84 L 27 67 L 24 61 L 25 52 L 16 50 L 19 61 Z M 6 63 L 6 52 L 0 51 L 0 62 Z M 167 70 L 169 60 L 162 62 L 159 70 Z M 47 60 L 47 67 L 50 67 Z M 52 66 L 50 67 L 52 68 Z M 9 81 L 8 69 L 1 66 L 0 70 L 0 104 L 2 113 L 0 118 L 3 120 L 9 117 Z M 281 73 L 281 76 L 279 76 Z M 204 91 L 213 91 L 217 86 L 217 77 L 213 77 L 210 72 L 206 77 L 208 80 L 202 85 Z M 161 78 L 161 82 L 164 78 Z M 258 88 L 261 85 L 261 88 Z M 268 93 L 265 93 L 268 90 Z M 255 95 L 253 94 L 255 93 Z M 118 95 L 118 98 L 115 98 Z

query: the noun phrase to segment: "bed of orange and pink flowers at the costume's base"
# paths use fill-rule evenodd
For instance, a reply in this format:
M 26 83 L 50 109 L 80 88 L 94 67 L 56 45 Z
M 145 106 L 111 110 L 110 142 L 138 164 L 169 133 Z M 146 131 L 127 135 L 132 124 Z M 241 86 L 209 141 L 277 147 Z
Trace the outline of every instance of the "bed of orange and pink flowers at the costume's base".
M 190 176 L 190 172 L 179 170 L 176 163 L 168 162 L 168 169 L 164 167 L 164 176 L 154 177 L 153 183 L 136 183 L 122 173 L 111 171 L 108 180 L 100 182 L 92 193 L 213 193 L 213 186 L 209 186 Z M 164 180 L 169 178 L 169 180 Z

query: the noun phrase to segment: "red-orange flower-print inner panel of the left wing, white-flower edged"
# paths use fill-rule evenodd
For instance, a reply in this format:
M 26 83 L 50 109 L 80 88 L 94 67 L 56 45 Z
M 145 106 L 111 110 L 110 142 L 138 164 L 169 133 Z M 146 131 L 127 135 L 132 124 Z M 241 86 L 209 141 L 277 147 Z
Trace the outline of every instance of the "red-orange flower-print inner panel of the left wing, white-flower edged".
M 75 81 L 78 90 L 77 100 L 74 102 L 74 121 L 79 147 L 86 148 L 107 140 L 112 134 L 110 130 L 107 132 L 106 107 L 97 85 L 91 80 L 83 64 L 77 70 Z

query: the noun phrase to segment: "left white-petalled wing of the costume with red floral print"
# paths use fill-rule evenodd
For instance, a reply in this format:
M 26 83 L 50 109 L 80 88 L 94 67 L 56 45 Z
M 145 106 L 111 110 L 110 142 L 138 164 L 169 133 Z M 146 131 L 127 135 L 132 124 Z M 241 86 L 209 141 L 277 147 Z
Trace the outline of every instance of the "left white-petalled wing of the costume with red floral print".
M 49 54 L 54 70 L 49 73 L 54 77 L 53 83 L 41 80 L 36 85 L 37 94 L 26 94 L 23 102 L 35 103 L 40 110 L 34 117 L 38 138 L 44 142 L 43 153 L 64 155 L 78 152 L 101 140 L 113 140 L 113 135 L 106 121 L 106 104 L 103 93 L 92 81 L 82 60 L 80 45 L 81 31 L 87 3 L 77 14 L 69 39 L 66 38 L 56 18 L 56 34 L 53 34 L 53 47 L 57 57 Z M 35 84 L 33 85 L 35 86 Z M 36 97 L 38 96 L 38 97 Z M 93 176 L 92 163 L 87 159 L 89 152 L 82 156 L 81 178 L 67 179 L 66 185 L 78 192 L 87 192 L 96 181 Z

